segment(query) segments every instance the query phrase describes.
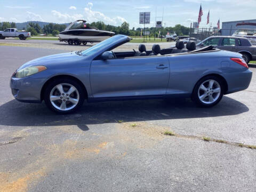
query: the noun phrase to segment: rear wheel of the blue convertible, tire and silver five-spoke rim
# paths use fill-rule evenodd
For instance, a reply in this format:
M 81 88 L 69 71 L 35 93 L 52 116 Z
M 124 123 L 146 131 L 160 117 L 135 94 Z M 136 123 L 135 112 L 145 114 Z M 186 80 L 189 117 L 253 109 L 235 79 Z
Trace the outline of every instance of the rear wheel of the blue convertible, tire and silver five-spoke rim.
M 196 83 L 191 98 L 199 107 L 212 107 L 220 102 L 223 91 L 224 85 L 221 78 L 206 76 Z

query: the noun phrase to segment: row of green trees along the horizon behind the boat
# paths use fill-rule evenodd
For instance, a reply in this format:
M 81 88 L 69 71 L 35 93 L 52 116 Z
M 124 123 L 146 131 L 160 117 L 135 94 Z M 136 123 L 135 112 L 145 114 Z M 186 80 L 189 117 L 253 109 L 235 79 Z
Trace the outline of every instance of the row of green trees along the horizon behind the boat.
M 127 22 L 123 22 L 121 26 L 112 26 L 112 25 L 106 25 L 102 21 L 98 22 L 92 22 L 87 24 L 89 26 L 96 27 L 100 30 L 107 30 L 107 31 L 113 31 L 115 34 L 122 34 L 122 35 L 130 35 L 130 36 L 140 36 L 141 30 L 143 31 L 143 28 L 137 28 L 134 27 L 130 29 L 130 25 Z M 31 33 L 31 35 L 38 35 L 38 34 L 52 34 L 52 35 L 58 35 L 60 31 L 65 30 L 67 26 L 61 25 L 61 24 L 54 24 L 49 23 L 47 25 L 44 25 L 43 28 L 41 28 L 38 23 L 29 22 L 26 28 L 23 28 L 23 30 L 26 30 Z M 16 28 L 15 22 L 2 22 L 0 23 L 0 30 L 4 30 L 6 28 Z M 155 28 L 155 27 L 147 27 L 145 28 L 145 31 L 150 32 L 150 36 L 154 37 L 155 35 L 158 36 L 159 31 L 160 34 L 166 35 L 167 33 L 176 33 L 177 35 L 189 35 L 189 27 L 185 27 L 182 25 L 175 25 L 174 27 L 163 27 L 163 28 Z

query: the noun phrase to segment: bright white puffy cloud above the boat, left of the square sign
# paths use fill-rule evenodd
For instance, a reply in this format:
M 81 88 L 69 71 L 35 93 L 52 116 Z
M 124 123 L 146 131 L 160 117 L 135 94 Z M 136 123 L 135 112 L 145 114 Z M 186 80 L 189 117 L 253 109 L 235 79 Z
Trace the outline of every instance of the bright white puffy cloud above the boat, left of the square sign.
M 87 7 L 84 8 L 85 18 L 86 18 L 86 21 L 88 21 L 88 22 L 103 21 L 106 24 L 116 26 L 116 25 L 121 25 L 124 21 L 126 21 L 124 18 L 119 17 L 119 16 L 110 18 L 99 11 L 93 11 L 92 5 L 93 5 L 92 3 L 88 3 Z

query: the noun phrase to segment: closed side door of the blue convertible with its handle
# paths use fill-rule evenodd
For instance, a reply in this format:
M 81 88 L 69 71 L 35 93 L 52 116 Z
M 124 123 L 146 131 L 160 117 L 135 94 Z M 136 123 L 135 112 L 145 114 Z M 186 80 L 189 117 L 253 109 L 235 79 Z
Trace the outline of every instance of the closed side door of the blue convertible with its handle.
M 90 70 L 93 97 L 164 95 L 169 73 L 165 56 L 93 60 Z

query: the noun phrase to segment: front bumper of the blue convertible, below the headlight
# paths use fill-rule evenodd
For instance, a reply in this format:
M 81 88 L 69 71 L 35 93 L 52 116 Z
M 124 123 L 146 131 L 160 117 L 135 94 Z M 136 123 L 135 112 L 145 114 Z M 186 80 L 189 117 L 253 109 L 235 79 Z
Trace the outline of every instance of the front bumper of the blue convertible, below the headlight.
M 45 82 L 45 78 L 12 77 L 10 81 L 12 95 L 21 102 L 41 102 L 41 90 Z

